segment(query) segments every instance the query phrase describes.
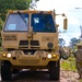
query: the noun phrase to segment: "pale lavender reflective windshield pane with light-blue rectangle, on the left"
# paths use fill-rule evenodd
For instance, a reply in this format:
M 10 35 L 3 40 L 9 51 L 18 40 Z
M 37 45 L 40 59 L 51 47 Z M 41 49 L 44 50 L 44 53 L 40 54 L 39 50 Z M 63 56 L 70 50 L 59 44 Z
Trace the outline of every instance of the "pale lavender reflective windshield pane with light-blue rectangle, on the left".
M 28 14 L 24 13 L 9 14 L 4 25 L 4 31 L 20 32 L 20 31 L 27 31 L 27 28 L 28 28 Z

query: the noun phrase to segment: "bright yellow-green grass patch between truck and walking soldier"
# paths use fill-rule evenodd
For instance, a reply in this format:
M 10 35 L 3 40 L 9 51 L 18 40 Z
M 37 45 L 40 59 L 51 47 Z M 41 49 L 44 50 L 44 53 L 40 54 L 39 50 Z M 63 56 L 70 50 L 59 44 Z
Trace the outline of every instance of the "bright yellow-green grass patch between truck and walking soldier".
M 77 71 L 74 57 L 69 57 L 69 59 L 62 60 L 60 67 L 62 70 Z

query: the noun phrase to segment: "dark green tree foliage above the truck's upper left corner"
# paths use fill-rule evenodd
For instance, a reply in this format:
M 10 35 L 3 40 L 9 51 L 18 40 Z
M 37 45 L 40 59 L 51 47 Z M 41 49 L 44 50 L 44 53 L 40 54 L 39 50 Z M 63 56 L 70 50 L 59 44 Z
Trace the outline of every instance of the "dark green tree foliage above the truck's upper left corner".
M 32 0 L 0 0 L 0 17 L 5 20 L 8 10 L 24 10 L 28 9 Z

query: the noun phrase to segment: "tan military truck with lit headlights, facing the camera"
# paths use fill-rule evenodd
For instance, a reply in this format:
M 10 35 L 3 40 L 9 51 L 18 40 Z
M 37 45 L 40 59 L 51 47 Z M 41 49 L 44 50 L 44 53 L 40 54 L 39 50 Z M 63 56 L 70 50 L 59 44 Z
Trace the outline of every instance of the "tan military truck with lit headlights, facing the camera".
M 12 73 L 22 69 L 48 69 L 51 80 L 60 78 L 58 24 L 55 11 L 10 10 L 1 31 L 1 79 L 12 79 Z

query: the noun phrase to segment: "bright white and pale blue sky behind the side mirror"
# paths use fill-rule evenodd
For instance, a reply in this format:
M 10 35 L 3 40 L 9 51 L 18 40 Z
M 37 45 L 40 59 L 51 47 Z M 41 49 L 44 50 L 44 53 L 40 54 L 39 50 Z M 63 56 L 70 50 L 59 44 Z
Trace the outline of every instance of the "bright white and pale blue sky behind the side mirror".
M 82 0 L 39 0 L 36 5 L 36 10 L 48 11 L 55 9 L 57 14 L 66 14 L 68 19 L 68 30 L 66 33 L 59 34 L 59 37 L 62 37 L 67 45 L 72 37 L 80 37 L 80 26 L 82 26 Z M 57 17 L 56 22 L 59 24 L 59 30 L 63 32 L 62 17 Z

